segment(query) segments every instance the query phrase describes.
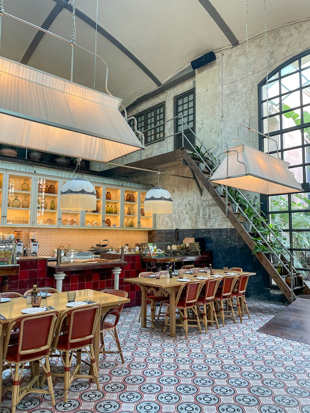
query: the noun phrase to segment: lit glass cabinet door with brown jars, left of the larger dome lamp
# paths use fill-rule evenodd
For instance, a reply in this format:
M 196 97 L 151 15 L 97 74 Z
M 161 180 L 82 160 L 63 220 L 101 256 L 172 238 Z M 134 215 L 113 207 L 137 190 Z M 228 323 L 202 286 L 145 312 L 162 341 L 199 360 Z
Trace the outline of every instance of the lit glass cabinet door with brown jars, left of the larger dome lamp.
M 57 226 L 59 181 L 38 177 L 36 186 L 36 225 Z

